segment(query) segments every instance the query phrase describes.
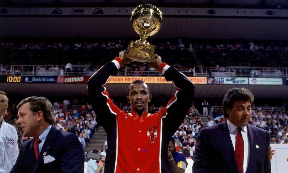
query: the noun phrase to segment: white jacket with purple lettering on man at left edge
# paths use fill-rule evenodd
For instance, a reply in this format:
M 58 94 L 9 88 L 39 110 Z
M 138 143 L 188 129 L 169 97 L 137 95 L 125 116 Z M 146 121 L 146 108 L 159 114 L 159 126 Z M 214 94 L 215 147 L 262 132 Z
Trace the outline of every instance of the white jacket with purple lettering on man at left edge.
M 9 173 L 19 154 L 15 127 L 2 119 L 0 127 L 0 173 Z

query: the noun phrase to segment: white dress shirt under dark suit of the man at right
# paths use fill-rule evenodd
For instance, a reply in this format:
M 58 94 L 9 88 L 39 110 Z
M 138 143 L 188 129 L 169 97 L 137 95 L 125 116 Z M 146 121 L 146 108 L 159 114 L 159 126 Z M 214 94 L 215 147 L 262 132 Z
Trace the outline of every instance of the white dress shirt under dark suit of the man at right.
M 234 124 L 232 124 L 228 119 L 227 119 L 227 125 L 228 125 L 228 129 L 229 129 L 229 133 L 230 133 L 230 138 L 234 147 L 234 151 L 235 151 L 235 143 L 236 143 L 236 136 L 238 133 L 237 130 L 237 126 L 235 126 Z M 247 171 L 247 166 L 248 166 L 248 162 L 249 162 L 249 150 L 250 150 L 250 146 L 249 146 L 249 140 L 248 140 L 248 134 L 247 134 L 247 126 L 241 127 L 241 134 L 242 134 L 242 138 L 244 141 L 244 163 L 243 163 L 243 172 L 245 173 Z

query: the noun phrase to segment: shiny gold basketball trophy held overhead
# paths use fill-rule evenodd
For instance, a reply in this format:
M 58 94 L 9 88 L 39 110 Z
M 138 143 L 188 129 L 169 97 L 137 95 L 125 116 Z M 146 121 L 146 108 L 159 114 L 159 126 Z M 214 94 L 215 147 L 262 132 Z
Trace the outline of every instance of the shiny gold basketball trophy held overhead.
M 131 41 L 128 53 L 124 56 L 138 62 L 156 62 L 155 46 L 150 45 L 146 38 L 156 34 L 162 25 L 162 12 L 152 4 L 142 4 L 136 7 L 131 16 L 131 25 L 140 35 L 140 40 Z

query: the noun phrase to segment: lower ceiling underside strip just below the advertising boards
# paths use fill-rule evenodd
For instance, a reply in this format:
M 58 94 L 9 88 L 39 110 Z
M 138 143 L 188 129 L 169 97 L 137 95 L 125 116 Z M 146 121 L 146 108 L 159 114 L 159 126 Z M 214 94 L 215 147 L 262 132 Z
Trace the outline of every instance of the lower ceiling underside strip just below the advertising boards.
M 233 87 L 245 87 L 256 98 L 284 98 L 288 96 L 285 85 L 201 85 L 196 84 L 196 98 L 223 98 L 227 90 Z M 107 84 L 110 97 L 127 96 L 128 84 Z M 172 97 L 175 88 L 172 84 L 149 84 L 153 97 Z M 0 90 L 7 93 L 19 93 L 22 96 L 88 96 L 86 84 L 38 84 L 38 83 L 1 83 Z M 45 93 L 45 95 L 43 95 Z

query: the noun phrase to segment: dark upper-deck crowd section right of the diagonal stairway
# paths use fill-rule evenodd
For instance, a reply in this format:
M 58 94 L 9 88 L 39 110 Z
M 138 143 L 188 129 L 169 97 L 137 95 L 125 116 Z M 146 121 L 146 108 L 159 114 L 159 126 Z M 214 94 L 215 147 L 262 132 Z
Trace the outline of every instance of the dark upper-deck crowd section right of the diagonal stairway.
M 287 67 L 287 46 L 271 44 L 193 44 L 202 66 Z M 278 62 L 278 63 L 277 63 Z M 215 65 L 213 65 L 215 64 Z

